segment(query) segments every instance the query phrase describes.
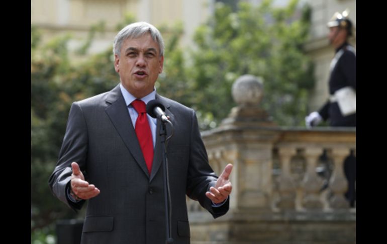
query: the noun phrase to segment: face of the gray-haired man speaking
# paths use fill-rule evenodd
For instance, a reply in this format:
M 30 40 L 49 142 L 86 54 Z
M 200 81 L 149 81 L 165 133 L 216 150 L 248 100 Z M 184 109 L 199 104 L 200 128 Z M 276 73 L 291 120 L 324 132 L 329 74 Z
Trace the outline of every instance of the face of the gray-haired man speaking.
M 153 91 L 158 74 L 162 72 L 164 57 L 149 33 L 123 41 L 121 56 L 115 55 L 114 67 L 121 84 L 136 98 Z

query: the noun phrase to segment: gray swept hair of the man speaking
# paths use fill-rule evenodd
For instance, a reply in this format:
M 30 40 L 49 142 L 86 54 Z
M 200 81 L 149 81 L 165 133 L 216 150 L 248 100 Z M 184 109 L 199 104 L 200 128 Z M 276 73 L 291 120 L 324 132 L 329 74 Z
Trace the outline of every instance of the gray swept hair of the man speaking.
M 136 22 L 125 26 L 114 38 L 113 53 L 120 57 L 122 42 L 129 38 L 137 38 L 149 33 L 152 39 L 158 43 L 160 57 L 164 55 L 164 41 L 159 30 L 146 22 Z

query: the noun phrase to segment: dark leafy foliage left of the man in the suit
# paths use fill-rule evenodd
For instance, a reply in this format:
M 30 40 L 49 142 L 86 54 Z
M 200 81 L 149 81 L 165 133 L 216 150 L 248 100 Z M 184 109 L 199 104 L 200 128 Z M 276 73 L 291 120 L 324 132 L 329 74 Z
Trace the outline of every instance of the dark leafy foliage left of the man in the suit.
M 118 83 L 118 76 L 111 61 L 111 50 L 75 66 L 71 65 L 67 50 L 69 36 L 43 46 L 39 36 L 38 30 L 32 27 L 31 230 L 43 234 L 53 231 L 55 220 L 77 216 L 55 200 L 48 187 L 70 106 L 73 101 L 111 90 Z M 49 228 L 43 228 L 50 224 Z

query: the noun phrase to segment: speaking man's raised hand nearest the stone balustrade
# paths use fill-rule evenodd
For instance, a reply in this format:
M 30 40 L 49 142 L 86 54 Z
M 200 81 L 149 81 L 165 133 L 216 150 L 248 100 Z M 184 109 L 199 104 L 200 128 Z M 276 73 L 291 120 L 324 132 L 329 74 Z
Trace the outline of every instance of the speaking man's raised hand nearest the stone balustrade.
M 228 164 L 218 180 L 216 181 L 215 187 L 211 187 L 209 192 L 206 192 L 206 196 L 211 199 L 215 204 L 224 202 L 230 195 L 232 185 L 230 182 L 230 174 L 233 169 L 232 164 Z

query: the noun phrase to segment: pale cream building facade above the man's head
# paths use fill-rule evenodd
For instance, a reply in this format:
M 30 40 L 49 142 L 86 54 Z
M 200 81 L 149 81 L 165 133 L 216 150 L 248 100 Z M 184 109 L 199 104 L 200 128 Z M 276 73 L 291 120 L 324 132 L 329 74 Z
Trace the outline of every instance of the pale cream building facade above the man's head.
M 182 23 L 181 45 L 192 44 L 195 29 L 211 15 L 213 1 L 208 0 L 31 0 L 31 24 L 39 28 L 43 41 L 70 32 L 69 48 L 80 46 L 91 25 L 103 21 L 105 32 L 94 38 L 89 53 L 98 53 L 112 45 L 116 25 L 131 14 L 136 21 L 156 27 Z

